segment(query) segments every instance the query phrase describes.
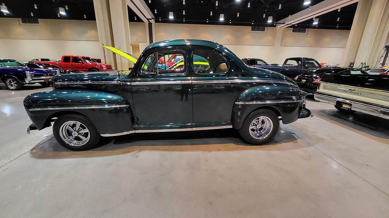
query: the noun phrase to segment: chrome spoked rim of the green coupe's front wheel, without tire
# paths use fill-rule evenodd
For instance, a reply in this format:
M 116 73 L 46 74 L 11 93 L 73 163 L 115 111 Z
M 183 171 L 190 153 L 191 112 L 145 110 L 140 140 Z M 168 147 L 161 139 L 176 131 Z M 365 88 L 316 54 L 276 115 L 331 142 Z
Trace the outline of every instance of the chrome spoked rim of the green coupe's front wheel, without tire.
M 70 146 L 82 146 L 88 143 L 90 134 L 88 128 L 78 121 L 66 121 L 60 127 L 60 137 Z

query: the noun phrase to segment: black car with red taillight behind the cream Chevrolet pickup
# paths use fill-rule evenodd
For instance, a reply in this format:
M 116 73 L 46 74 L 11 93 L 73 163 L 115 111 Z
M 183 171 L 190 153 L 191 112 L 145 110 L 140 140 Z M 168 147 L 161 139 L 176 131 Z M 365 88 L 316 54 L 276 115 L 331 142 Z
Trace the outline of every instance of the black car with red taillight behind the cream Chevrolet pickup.
M 315 94 L 318 86 L 320 85 L 319 81 L 321 80 L 324 73 L 332 74 L 368 74 L 363 70 L 355 68 L 345 68 L 345 67 L 323 67 L 315 70 L 308 71 L 307 73 L 302 73 L 299 76 L 294 78 L 298 87 L 305 92 Z

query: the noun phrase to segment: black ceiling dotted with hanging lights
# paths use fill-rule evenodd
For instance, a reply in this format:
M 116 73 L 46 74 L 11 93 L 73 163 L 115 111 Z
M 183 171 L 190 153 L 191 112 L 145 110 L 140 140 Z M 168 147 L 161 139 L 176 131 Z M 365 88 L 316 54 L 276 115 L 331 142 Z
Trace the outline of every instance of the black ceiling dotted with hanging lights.
M 268 23 L 268 17 L 279 21 L 291 14 L 306 9 L 309 5 L 315 5 L 324 0 L 311 0 L 309 5 L 303 5 L 304 0 L 144 0 L 155 16 L 155 22 L 164 23 L 188 23 L 188 24 L 215 24 L 238 26 L 275 26 Z M 39 18 L 39 19 L 73 19 L 95 20 L 93 0 L 0 0 L 0 5 L 5 3 L 10 13 L 5 15 L 0 12 L 0 17 Z M 250 7 L 248 6 L 250 3 Z M 37 5 L 37 9 L 34 8 Z M 279 5 L 281 4 L 281 9 Z M 59 13 L 59 7 L 65 8 L 66 15 Z M 313 20 L 300 22 L 298 28 L 319 29 L 350 29 L 357 3 L 342 7 L 341 11 L 331 11 L 317 16 L 319 23 L 313 25 Z M 155 13 L 155 9 L 157 13 Z M 185 14 L 183 14 L 185 10 Z M 212 15 L 210 12 L 212 11 Z M 31 12 L 34 16 L 31 16 Z M 173 12 L 173 19 L 169 18 L 169 12 Z M 239 13 L 239 17 L 237 14 Z M 220 14 L 224 14 L 224 21 L 219 21 Z M 265 17 L 263 17 L 265 14 Z M 86 18 L 84 17 L 86 16 Z M 135 20 L 135 17 L 137 19 Z M 337 21 L 339 17 L 339 21 Z M 130 7 L 128 7 L 128 19 L 131 22 L 143 22 Z M 207 22 L 208 19 L 208 22 Z M 184 21 L 185 20 L 185 21 Z M 230 23 L 231 20 L 231 23 Z M 317 27 L 316 27 L 317 26 Z

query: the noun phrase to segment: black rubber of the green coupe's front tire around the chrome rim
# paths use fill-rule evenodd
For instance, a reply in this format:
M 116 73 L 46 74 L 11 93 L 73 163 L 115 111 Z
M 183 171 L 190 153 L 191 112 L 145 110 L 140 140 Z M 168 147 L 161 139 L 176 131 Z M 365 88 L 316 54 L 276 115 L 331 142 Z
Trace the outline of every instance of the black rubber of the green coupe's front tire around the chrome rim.
M 70 133 L 70 131 L 67 128 L 68 123 L 72 123 L 71 121 L 76 121 L 76 122 L 81 123 L 81 125 L 79 125 L 79 130 L 80 130 L 80 128 L 85 130 L 84 127 L 86 127 L 86 129 L 88 130 L 89 140 L 86 142 L 84 141 L 85 144 L 82 144 L 83 142 L 82 142 L 82 138 L 80 138 L 80 135 L 82 135 L 84 138 L 87 138 L 87 139 L 88 139 L 88 135 L 86 135 L 86 134 L 84 135 L 84 133 L 77 133 L 77 136 L 72 135 L 72 133 Z M 71 126 L 75 126 L 75 125 L 76 124 L 74 123 Z M 72 128 L 71 126 L 70 126 L 70 128 Z M 89 118 L 87 118 L 86 116 L 82 116 L 79 114 L 65 114 L 65 115 L 62 115 L 59 118 L 57 118 L 56 121 L 54 122 L 54 125 L 53 125 L 53 135 L 54 135 L 55 139 L 63 147 L 70 149 L 70 150 L 73 150 L 73 151 L 84 151 L 84 150 L 91 149 L 91 148 L 95 147 L 96 144 L 100 141 L 100 133 L 98 133 L 98 131 L 97 131 L 95 125 L 92 123 L 92 121 Z M 70 137 L 74 137 L 74 138 L 73 139 L 69 138 L 68 135 L 71 135 Z M 66 141 L 66 138 L 69 138 L 68 142 L 74 142 L 74 141 L 77 142 L 80 140 L 81 140 L 81 142 L 77 142 L 77 143 L 79 143 L 79 145 L 75 145 L 76 143 L 68 144 L 68 142 Z

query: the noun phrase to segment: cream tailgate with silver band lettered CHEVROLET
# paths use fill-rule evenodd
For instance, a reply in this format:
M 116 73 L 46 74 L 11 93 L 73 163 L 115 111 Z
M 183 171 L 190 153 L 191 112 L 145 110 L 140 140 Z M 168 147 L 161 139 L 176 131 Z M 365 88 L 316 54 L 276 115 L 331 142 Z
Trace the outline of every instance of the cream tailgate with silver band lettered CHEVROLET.
M 389 107 L 389 92 L 383 90 L 321 82 L 317 92 Z

